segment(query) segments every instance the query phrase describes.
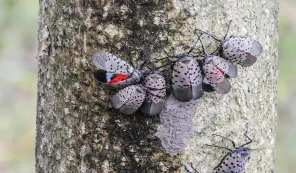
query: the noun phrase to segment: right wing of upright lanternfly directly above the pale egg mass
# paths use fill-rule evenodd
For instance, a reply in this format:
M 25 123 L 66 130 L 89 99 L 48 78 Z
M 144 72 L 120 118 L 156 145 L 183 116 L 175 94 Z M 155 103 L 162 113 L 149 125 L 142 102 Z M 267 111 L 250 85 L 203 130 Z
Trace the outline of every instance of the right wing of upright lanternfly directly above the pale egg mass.
M 202 74 L 200 66 L 195 59 L 190 60 L 187 65 L 190 77 L 190 83 L 192 86 L 192 98 L 199 99 L 203 95 L 202 90 Z

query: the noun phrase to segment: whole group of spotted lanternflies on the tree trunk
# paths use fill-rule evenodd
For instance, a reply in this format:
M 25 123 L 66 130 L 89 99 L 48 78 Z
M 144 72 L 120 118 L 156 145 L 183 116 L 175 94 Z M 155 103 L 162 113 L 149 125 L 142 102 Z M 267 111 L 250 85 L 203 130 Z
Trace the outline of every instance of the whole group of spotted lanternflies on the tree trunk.
M 227 32 L 228 30 L 229 27 Z M 200 33 L 198 34 L 196 31 Z M 237 67 L 234 63 L 244 67 L 252 66 L 257 61 L 256 56 L 261 54 L 262 46 L 258 41 L 248 38 L 230 36 L 226 39 L 227 32 L 223 40 L 219 40 L 205 31 L 196 31 L 195 33 L 198 36 L 196 43 L 200 41 L 204 54 L 190 54 L 196 45 L 195 43 L 193 48 L 186 54 L 162 58 L 177 58 L 176 61 L 164 65 L 170 65 L 169 69 L 172 70 L 171 76 L 168 78 L 158 71 L 164 66 L 154 69 L 149 68 L 147 66 L 148 58 L 146 58 L 141 68 L 136 69 L 131 62 L 127 63 L 104 51 L 96 51 L 91 55 L 92 62 L 99 68 L 99 70 L 94 71 L 94 79 L 104 89 L 118 90 L 111 98 L 111 102 L 115 109 L 125 115 L 131 115 L 138 109 L 145 115 L 158 115 L 165 104 L 166 80 L 170 81 L 172 94 L 180 102 L 199 99 L 204 92 L 215 91 L 219 94 L 227 94 L 231 89 L 228 78 L 237 76 Z M 209 55 L 205 53 L 200 40 L 202 34 L 212 37 L 219 43 L 219 47 L 216 49 L 219 50 L 217 54 L 214 54 L 216 51 Z M 149 68 L 149 72 L 141 70 L 145 64 Z M 247 160 L 250 159 L 250 149 L 244 146 L 252 142 L 246 133 L 244 136 L 250 142 L 239 147 L 235 147 L 234 142 L 230 140 L 235 150 L 215 146 L 231 151 L 215 167 L 215 173 L 242 172 Z M 186 168 L 186 170 L 192 173 L 189 169 Z M 195 169 L 194 171 L 197 172 Z

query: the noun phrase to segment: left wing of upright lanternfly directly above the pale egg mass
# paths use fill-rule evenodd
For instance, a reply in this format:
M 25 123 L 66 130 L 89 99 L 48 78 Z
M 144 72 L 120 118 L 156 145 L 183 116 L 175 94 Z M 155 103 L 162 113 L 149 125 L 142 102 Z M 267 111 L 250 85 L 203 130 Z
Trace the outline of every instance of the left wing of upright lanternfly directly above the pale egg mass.
M 173 67 L 172 88 L 174 96 L 180 102 L 189 102 L 192 99 L 188 67 L 182 61 L 177 61 Z

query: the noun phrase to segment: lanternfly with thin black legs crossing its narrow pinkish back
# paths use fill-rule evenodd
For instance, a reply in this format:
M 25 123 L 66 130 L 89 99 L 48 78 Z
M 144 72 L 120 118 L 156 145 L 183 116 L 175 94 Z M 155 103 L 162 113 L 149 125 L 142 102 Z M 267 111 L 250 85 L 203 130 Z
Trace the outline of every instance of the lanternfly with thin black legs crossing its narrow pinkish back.
M 161 73 L 151 72 L 144 77 L 143 86 L 147 89 L 141 112 L 151 116 L 159 114 L 165 103 L 165 78 Z

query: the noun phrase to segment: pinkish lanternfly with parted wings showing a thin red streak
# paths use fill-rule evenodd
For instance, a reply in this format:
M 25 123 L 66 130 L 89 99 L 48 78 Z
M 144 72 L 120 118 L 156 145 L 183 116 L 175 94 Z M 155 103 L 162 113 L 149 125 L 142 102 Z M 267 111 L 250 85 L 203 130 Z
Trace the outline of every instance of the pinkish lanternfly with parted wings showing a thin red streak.
M 213 90 L 219 94 L 227 94 L 230 91 L 231 85 L 226 78 L 226 74 L 235 78 L 237 76 L 237 68 L 219 56 L 207 55 L 202 61 L 202 70 L 205 75 L 204 83 L 209 84 Z M 212 91 L 209 86 L 203 85 L 203 90 Z

